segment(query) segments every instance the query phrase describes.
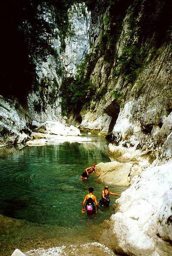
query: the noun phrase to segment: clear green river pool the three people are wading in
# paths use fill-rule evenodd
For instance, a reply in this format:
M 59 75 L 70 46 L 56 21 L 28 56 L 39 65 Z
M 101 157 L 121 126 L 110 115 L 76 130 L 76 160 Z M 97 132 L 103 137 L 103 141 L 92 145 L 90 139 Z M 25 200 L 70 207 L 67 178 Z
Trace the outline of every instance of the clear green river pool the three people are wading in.
M 94 188 L 99 201 L 105 184 L 94 174 L 87 182 L 80 175 L 92 163 L 110 161 L 106 139 L 92 138 L 91 143 L 0 149 L 0 214 L 12 218 L 0 223 L 0 255 L 16 248 L 96 241 L 98 227 L 114 213 L 118 197 L 111 196 L 111 205 L 93 218 L 81 213 L 88 188 Z M 112 192 L 125 189 L 110 186 Z

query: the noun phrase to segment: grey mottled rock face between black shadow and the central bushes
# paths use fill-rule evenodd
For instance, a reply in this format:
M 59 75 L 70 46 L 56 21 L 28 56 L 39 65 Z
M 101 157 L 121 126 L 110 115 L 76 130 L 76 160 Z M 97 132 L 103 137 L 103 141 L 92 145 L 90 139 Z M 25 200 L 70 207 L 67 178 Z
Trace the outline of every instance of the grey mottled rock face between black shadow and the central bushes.
M 38 5 L 47 26 L 54 25 L 54 34 L 49 34 L 49 40 L 54 55 L 49 54 L 43 61 L 41 56 L 35 58 L 37 90 L 33 90 L 28 96 L 29 115 L 32 119 L 44 122 L 47 119 L 57 120 L 61 113 L 59 102 L 59 87 L 61 85 L 62 66 L 60 61 L 60 37 L 55 20 L 55 9 L 42 3 Z M 47 35 L 40 35 L 47 36 Z

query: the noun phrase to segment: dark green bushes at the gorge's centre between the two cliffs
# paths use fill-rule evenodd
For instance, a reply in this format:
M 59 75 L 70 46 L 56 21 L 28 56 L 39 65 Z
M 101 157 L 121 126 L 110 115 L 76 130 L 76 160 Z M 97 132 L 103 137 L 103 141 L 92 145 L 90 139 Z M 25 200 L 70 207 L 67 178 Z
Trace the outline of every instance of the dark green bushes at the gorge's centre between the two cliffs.
M 85 60 L 78 66 L 77 76 L 65 78 L 61 85 L 62 114 L 79 113 L 83 107 L 87 108 L 90 100 L 95 96 L 95 89 L 90 82 L 90 74 L 96 63 L 96 54 L 87 54 Z

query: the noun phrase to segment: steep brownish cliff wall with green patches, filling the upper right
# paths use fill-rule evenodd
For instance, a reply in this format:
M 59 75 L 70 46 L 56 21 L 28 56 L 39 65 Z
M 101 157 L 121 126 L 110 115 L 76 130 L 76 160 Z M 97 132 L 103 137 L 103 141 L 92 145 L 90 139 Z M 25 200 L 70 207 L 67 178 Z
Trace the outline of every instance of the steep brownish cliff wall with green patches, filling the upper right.
M 94 98 L 99 100 L 93 99 L 89 111 L 82 112 L 81 126 L 106 130 L 117 146 L 146 149 L 161 160 L 169 159 L 172 38 L 170 17 L 165 17 L 168 4 L 134 2 L 125 6 L 125 15 L 123 8 L 115 5 L 107 7 L 96 20 L 96 29 L 92 29 L 91 53 L 98 53 L 98 57 L 94 59 L 90 80 L 97 88 Z M 115 7 L 119 10 L 113 16 Z M 124 15 L 121 27 L 117 24 L 119 14 L 120 18 Z M 120 32 L 118 36 L 113 35 L 115 30 L 116 34 Z

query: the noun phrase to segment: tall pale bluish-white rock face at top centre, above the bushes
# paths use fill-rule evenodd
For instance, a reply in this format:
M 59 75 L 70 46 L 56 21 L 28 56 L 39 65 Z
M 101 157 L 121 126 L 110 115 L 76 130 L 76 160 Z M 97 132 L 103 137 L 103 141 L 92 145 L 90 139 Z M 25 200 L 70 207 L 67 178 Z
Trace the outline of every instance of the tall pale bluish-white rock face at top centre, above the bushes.
M 62 63 L 66 75 L 75 76 L 77 67 L 89 53 L 90 12 L 85 3 L 74 4 L 68 10 L 71 29 L 65 38 L 65 51 L 62 54 Z

